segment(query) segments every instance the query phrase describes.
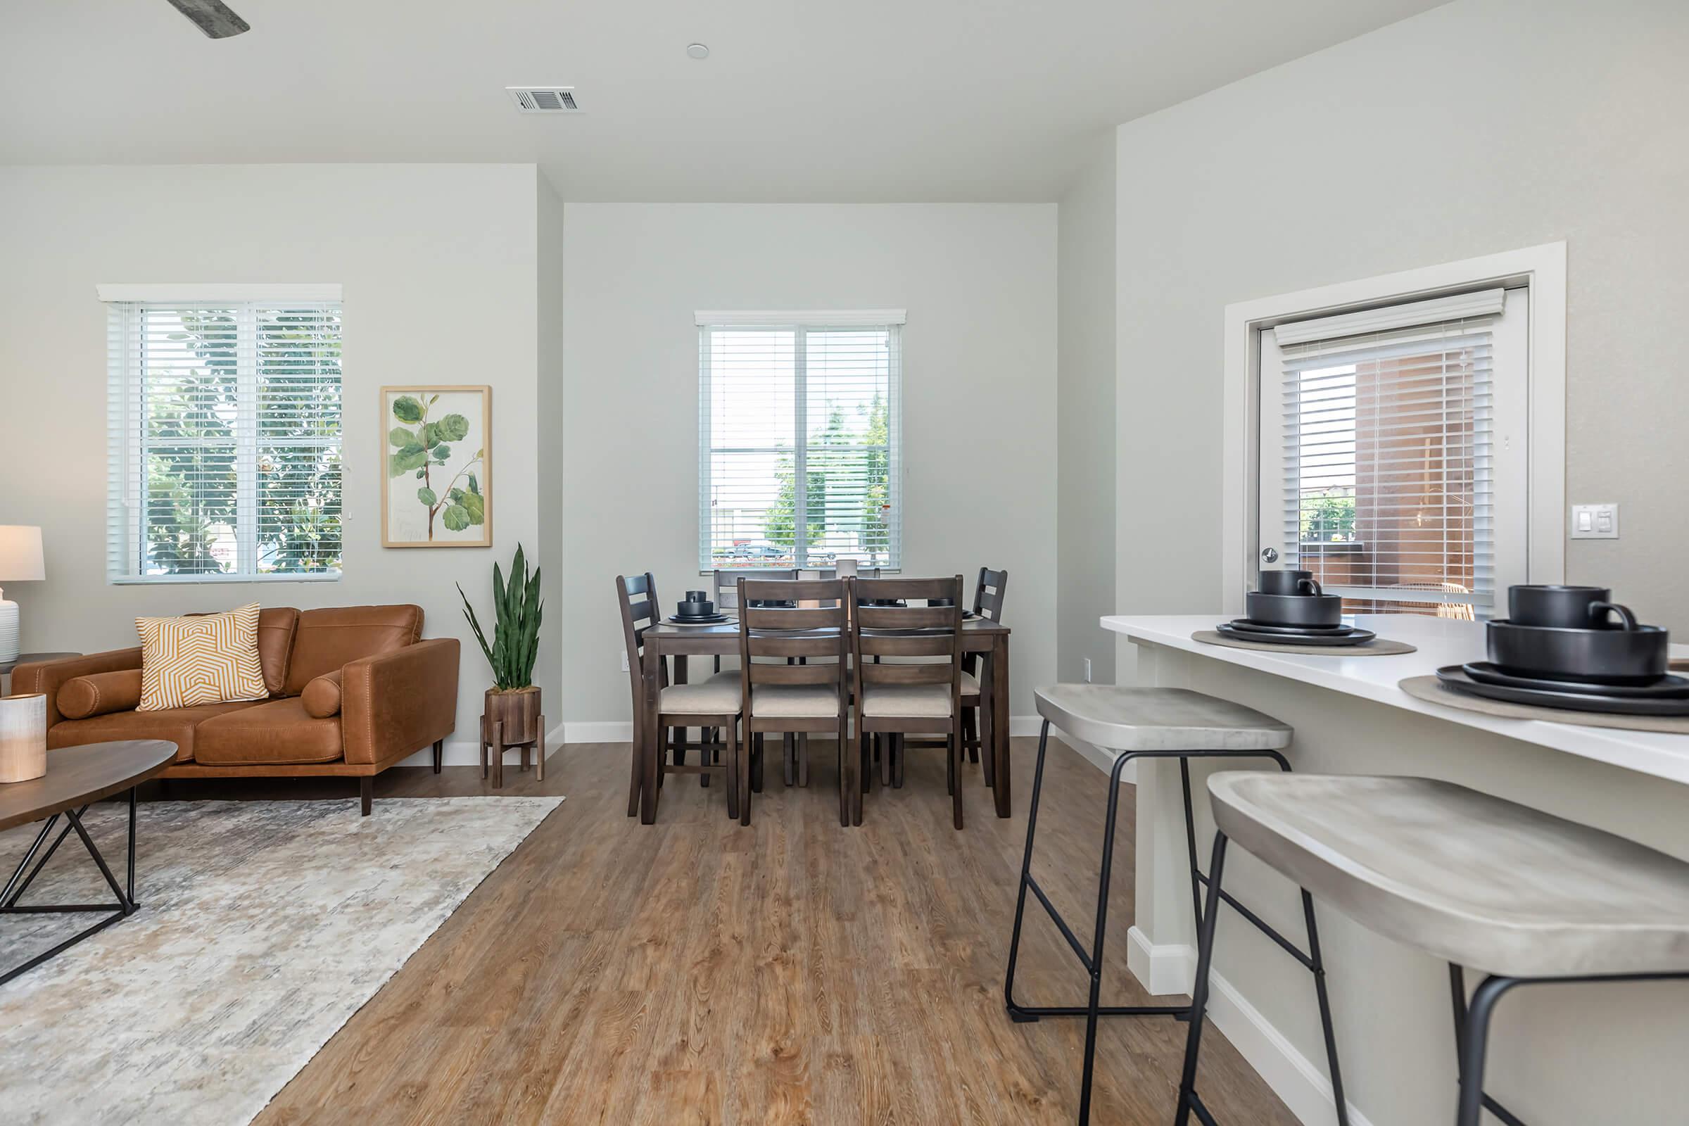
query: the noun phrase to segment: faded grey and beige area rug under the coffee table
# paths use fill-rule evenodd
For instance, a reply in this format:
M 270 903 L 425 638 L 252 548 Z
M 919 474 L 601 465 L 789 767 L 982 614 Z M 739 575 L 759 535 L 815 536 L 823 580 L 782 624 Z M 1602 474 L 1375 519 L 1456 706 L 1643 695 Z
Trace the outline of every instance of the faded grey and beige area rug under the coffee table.
M 0 986 L 0 1119 L 252 1121 L 559 802 L 144 804 L 140 912 Z M 127 807 L 84 822 L 122 880 Z M 37 829 L 0 834 L 0 878 Z M 73 834 L 24 903 L 96 898 Z M 66 918 L 0 918 L 0 964 Z

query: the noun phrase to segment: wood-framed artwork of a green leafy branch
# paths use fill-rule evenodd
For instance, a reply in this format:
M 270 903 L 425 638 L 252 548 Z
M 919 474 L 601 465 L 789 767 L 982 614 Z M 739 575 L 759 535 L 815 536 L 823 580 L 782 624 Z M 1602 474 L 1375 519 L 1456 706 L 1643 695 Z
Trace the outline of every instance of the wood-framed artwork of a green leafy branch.
M 382 547 L 493 545 L 493 388 L 382 388 Z

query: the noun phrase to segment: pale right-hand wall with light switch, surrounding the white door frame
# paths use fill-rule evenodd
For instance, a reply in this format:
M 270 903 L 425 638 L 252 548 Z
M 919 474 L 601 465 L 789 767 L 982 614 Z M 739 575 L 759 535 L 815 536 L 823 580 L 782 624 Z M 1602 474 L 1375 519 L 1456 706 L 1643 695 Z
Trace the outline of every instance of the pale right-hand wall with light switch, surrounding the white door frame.
M 1120 608 L 1219 604 L 1228 302 L 1566 240 L 1567 500 L 1623 506 L 1567 579 L 1689 630 L 1684 57 L 1677 0 L 1463 0 L 1120 127 Z

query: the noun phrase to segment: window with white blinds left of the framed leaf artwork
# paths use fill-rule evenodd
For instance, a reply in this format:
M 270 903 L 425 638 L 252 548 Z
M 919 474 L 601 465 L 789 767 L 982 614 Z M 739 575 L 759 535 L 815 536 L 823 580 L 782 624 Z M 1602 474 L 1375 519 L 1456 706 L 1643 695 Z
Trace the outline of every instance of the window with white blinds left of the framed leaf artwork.
M 338 300 L 113 300 L 113 582 L 338 577 Z

